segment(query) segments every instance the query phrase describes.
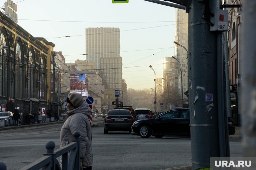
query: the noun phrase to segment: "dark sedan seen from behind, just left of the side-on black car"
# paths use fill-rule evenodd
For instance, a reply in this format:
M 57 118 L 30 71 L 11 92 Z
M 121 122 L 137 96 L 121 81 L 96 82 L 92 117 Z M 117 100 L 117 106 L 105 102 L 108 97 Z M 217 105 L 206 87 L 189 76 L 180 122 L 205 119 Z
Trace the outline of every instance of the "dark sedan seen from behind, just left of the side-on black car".
M 113 109 L 109 110 L 107 116 L 104 118 L 104 134 L 108 131 L 129 131 L 131 133 L 131 126 L 134 118 L 129 110 Z

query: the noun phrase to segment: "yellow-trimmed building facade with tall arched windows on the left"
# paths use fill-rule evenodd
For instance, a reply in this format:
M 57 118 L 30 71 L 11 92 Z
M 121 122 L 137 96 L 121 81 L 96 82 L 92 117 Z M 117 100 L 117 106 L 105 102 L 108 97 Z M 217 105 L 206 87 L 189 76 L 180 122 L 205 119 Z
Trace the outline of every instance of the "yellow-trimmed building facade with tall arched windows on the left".
M 33 114 L 47 108 L 55 45 L 33 37 L 2 12 L 0 38 L 0 110 Z

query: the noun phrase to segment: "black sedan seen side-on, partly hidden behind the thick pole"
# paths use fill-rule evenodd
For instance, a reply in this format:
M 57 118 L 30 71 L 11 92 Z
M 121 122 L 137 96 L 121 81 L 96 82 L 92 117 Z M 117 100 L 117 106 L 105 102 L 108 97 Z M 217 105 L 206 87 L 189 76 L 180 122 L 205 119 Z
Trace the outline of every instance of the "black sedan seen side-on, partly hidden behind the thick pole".
M 136 111 L 136 110 L 135 110 Z M 232 119 L 232 118 L 231 118 Z M 232 120 L 228 118 L 229 135 L 235 133 Z M 135 121 L 132 125 L 132 133 L 141 137 L 151 135 L 161 138 L 164 135 L 187 134 L 190 136 L 189 109 L 173 109 L 159 114 L 152 119 Z

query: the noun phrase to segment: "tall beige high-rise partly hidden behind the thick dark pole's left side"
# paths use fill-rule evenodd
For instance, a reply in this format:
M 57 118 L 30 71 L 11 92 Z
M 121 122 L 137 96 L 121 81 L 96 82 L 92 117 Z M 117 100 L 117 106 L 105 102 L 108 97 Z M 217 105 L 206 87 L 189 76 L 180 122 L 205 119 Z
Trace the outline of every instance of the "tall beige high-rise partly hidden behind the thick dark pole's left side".
M 186 13 L 183 9 L 176 9 L 176 24 L 175 24 L 175 42 L 179 45 L 175 45 L 175 58 L 172 58 L 172 62 L 174 64 L 174 74 L 173 77 L 176 78 L 173 81 L 173 86 L 179 88 L 181 91 L 181 87 L 183 88 L 183 92 L 188 90 L 188 58 L 187 58 L 187 50 L 188 49 L 188 13 Z M 183 46 L 183 47 L 182 47 Z M 180 71 L 180 69 L 182 71 Z M 181 72 L 182 72 L 182 83 L 181 84 Z M 184 98 L 184 103 L 188 103 L 187 96 L 182 94 Z

